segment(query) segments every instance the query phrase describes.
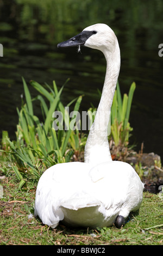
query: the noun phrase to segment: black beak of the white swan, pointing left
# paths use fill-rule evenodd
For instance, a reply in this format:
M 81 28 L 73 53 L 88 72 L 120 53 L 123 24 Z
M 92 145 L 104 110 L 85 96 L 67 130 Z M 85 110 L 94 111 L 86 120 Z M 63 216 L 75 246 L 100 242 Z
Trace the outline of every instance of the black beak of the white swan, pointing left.
M 96 31 L 83 31 L 80 34 L 73 36 L 73 38 L 70 38 L 67 41 L 60 42 L 60 44 L 58 44 L 57 47 L 60 48 L 60 47 L 73 47 L 73 46 L 84 45 L 86 40 L 89 39 L 91 35 L 96 33 L 97 33 Z

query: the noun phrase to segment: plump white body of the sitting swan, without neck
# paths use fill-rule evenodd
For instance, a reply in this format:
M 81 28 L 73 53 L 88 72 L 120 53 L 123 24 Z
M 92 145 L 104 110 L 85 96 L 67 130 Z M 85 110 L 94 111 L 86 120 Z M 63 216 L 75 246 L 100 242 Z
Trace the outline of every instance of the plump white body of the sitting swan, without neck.
M 60 163 L 40 178 L 35 215 L 52 228 L 62 220 L 71 226 L 109 227 L 117 216 L 126 218 L 139 209 L 141 201 L 140 178 L 127 163 Z

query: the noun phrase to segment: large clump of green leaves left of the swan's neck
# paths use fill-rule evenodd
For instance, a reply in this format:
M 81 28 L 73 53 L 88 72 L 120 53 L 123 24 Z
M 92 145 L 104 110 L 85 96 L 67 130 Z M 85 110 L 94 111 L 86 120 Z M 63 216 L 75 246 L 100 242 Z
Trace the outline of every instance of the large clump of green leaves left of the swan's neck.
M 80 146 L 79 131 L 70 129 L 72 118 L 69 117 L 60 100 L 65 84 L 58 90 L 54 81 L 53 89 L 48 84 L 43 87 L 41 84 L 31 81 L 30 84 L 40 93 L 32 99 L 26 81 L 23 78 L 22 80 L 26 103 L 22 104 L 20 110 L 17 108 L 19 119 L 16 141 L 11 142 L 8 134 L 3 132 L 3 145 L 5 147 L 1 150 L 10 153 L 14 157 L 16 166 L 13 166 L 12 169 L 18 180 L 20 180 L 20 187 L 24 184 L 21 173 L 28 173 L 33 175 L 34 178 L 39 178 L 43 169 L 56 163 L 69 162 L 71 160 L 73 149 L 70 149 L 70 145 L 75 142 L 76 149 L 79 149 Z M 36 100 L 40 101 L 42 122 L 34 114 L 33 103 Z M 82 96 L 79 96 L 68 103 L 67 107 L 70 107 L 75 102 L 73 111 L 76 112 L 79 110 L 81 101 Z M 54 129 L 53 122 L 56 119 L 53 119 L 53 113 L 55 111 L 59 111 L 62 114 L 63 121 L 69 129 Z M 76 117 L 73 117 L 73 122 L 75 121 Z

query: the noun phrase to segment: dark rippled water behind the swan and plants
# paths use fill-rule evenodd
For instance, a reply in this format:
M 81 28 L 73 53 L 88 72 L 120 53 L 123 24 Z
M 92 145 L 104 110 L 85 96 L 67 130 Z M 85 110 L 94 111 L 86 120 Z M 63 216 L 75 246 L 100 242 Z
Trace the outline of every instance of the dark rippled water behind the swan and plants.
M 122 93 L 130 84 L 136 90 L 130 114 L 134 128 L 130 144 L 146 153 L 163 157 L 163 83 L 159 44 L 163 43 L 163 1 L 104 0 L 15 0 L 0 1 L 0 130 L 14 138 L 23 86 L 35 80 L 58 87 L 69 77 L 62 101 L 65 104 L 84 94 L 80 111 L 90 103 L 98 106 L 97 88 L 102 90 L 105 59 L 101 52 L 86 47 L 57 48 L 58 42 L 71 38 L 85 27 L 106 23 L 116 33 L 121 48 L 119 83 Z M 30 88 L 32 95 L 35 92 Z M 40 109 L 35 109 L 39 114 Z

